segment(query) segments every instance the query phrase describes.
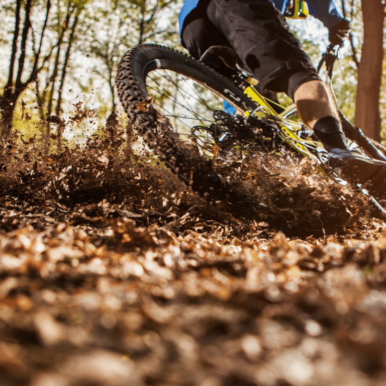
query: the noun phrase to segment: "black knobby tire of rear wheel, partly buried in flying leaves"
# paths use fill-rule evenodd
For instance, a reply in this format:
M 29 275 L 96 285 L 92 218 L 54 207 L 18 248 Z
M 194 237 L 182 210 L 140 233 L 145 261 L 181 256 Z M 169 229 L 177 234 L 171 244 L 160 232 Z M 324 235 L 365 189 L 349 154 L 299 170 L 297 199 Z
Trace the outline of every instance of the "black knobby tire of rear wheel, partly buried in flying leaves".
M 231 80 L 198 60 L 167 47 L 139 45 L 128 51 L 118 66 L 116 84 L 121 103 L 149 147 L 181 179 L 204 196 L 232 202 L 233 190 L 213 170 L 210 157 L 200 153 L 194 143 L 181 140 L 169 119 L 157 112 L 158 106 L 149 98 L 147 76 L 160 69 L 193 79 L 240 112 L 254 110 L 256 104 Z M 240 201 L 239 195 L 236 196 L 235 202 Z

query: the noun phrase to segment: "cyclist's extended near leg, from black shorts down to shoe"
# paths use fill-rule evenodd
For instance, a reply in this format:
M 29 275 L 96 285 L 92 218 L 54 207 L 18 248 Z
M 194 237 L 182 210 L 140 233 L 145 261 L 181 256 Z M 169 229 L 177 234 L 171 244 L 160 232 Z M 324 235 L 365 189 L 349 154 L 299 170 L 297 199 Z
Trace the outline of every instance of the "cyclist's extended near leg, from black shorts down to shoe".
M 303 119 L 314 127 L 315 133 L 327 149 L 331 149 L 329 155 L 332 160 L 343 160 L 344 167 L 348 167 L 348 174 L 355 176 L 356 181 L 364 183 L 369 180 L 378 184 L 373 177 L 383 167 L 386 169 L 385 163 L 363 158 L 345 149 L 341 125 L 332 103 L 329 102 L 328 93 L 325 93 L 326 88 L 321 86 L 321 79 L 311 59 L 302 50 L 300 42 L 289 32 L 285 19 L 278 10 L 267 0 L 201 0 L 199 4 L 203 8 L 197 16 L 205 19 L 205 23 L 209 21 L 217 32 L 211 34 L 203 28 L 204 25 L 199 34 L 191 30 L 192 50 L 202 51 L 202 54 L 210 45 L 219 44 L 212 42 L 213 37 L 225 37 L 243 66 L 255 74 L 260 86 L 276 92 L 286 92 L 296 100 Z M 184 26 L 185 24 L 186 19 Z M 221 35 L 218 35 L 219 32 Z M 200 40 L 198 45 L 196 39 Z M 182 42 L 188 48 L 187 40 L 188 38 L 185 42 L 182 33 Z M 201 54 L 197 52 L 195 56 L 200 57 Z M 313 81 L 317 82 L 312 83 Z M 322 103 L 315 104 L 316 98 L 321 99 Z M 386 183 L 381 190 L 386 190 Z

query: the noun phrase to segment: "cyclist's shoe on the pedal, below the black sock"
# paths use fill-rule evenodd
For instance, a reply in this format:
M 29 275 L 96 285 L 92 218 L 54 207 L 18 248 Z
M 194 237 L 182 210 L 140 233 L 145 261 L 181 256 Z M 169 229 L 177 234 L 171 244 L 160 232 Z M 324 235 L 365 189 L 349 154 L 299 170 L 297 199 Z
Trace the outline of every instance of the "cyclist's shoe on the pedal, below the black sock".
M 338 168 L 350 182 L 359 183 L 376 195 L 386 193 L 386 162 L 367 157 L 355 150 L 333 148 L 328 152 L 328 164 Z

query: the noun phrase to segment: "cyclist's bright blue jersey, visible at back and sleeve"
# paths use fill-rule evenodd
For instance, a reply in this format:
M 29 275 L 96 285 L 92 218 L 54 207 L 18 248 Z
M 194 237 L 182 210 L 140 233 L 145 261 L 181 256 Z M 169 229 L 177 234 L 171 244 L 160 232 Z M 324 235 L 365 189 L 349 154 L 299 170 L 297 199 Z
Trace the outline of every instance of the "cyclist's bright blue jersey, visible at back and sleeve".
M 179 31 L 182 30 L 183 21 L 188 13 L 195 9 L 200 0 L 185 0 L 179 13 Z M 284 14 L 291 0 L 269 0 L 282 14 Z M 320 20 L 325 27 L 330 28 L 336 26 L 342 21 L 343 17 L 339 14 L 334 0 L 306 0 L 310 15 Z

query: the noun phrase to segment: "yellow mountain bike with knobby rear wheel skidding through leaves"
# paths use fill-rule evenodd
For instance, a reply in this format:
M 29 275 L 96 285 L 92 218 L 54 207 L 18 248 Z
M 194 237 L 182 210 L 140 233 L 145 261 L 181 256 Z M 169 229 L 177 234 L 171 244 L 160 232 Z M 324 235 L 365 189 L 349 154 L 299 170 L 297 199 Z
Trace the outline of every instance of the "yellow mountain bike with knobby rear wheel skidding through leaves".
M 319 64 L 319 68 L 326 64 L 330 81 L 336 59 L 337 50 L 329 46 Z M 129 120 L 148 146 L 211 200 L 254 205 L 253 199 L 231 188 L 214 166 L 215 160 L 226 159 L 240 144 L 248 147 L 260 141 L 268 146 L 279 140 L 281 148 L 296 150 L 320 165 L 328 162 L 326 150 L 300 122 L 296 107 L 285 108 L 264 96 L 253 74 L 238 66 L 229 48 L 211 47 L 196 60 L 164 46 L 139 45 L 121 59 L 116 84 Z M 350 146 L 386 160 L 382 145 L 366 138 L 342 113 L 340 117 Z M 333 178 L 339 179 L 334 174 Z M 386 213 L 365 186 L 357 188 Z

